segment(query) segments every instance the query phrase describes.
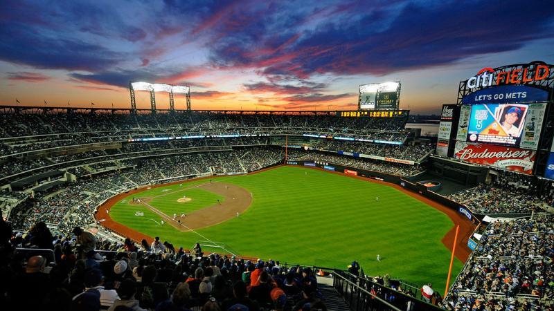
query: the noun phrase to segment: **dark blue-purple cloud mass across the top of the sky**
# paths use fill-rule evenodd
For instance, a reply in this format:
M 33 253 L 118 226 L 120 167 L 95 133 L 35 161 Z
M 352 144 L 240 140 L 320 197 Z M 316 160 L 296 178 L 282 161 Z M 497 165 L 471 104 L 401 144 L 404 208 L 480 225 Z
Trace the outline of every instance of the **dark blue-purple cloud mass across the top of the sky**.
M 278 84 L 245 84 L 247 91 L 315 94 L 321 90 L 291 79 L 431 68 L 554 35 L 554 1 L 544 0 L 6 0 L 4 7 L 1 60 L 122 87 L 129 79 L 178 83 L 230 68 Z M 168 36 L 175 46 L 163 41 Z M 196 76 L 158 66 L 184 43 L 207 56 L 204 64 L 190 64 L 206 68 Z M 187 59 L 175 62 L 188 68 Z

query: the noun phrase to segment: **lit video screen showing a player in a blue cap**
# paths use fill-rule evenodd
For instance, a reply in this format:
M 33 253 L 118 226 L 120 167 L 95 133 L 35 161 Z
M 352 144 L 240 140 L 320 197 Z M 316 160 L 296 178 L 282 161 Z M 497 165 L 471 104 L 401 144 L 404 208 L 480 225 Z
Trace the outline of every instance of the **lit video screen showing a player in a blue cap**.
M 467 142 L 488 142 L 519 147 L 528 106 L 477 104 L 472 106 Z

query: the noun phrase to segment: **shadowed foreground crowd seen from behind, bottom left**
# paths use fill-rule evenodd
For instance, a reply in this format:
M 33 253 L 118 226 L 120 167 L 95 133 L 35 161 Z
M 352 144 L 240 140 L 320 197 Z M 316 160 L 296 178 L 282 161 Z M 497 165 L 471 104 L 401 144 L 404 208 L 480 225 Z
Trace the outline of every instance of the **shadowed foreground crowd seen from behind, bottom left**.
M 199 245 L 188 251 L 159 238 L 111 243 L 80 227 L 54 235 L 42 222 L 12 232 L 0 220 L 0 230 L 7 310 L 327 310 L 310 268 L 204 254 Z M 53 258 L 15 247 L 51 249 Z

